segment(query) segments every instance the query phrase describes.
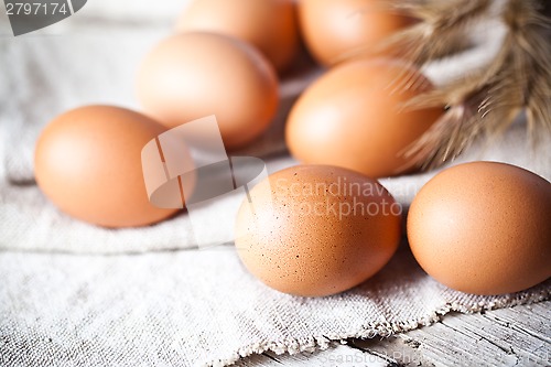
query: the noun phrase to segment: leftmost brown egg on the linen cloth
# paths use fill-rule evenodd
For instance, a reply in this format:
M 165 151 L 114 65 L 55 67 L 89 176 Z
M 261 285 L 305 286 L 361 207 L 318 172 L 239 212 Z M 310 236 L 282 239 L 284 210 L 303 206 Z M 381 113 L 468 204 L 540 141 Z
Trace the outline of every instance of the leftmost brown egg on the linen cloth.
M 138 112 L 87 106 L 55 118 L 39 138 L 36 183 L 66 214 L 106 227 L 149 225 L 173 215 L 148 199 L 141 150 L 164 128 Z

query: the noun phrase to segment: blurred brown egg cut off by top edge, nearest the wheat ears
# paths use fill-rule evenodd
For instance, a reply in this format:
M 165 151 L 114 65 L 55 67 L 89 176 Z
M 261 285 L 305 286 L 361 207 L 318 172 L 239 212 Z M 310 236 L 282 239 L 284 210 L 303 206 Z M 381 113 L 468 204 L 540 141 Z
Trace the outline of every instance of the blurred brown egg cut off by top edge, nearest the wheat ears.
M 300 0 L 299 20 L 306 46 L 324 65 L 371 52 L 411 23 L 382 9 L 378 0 Z

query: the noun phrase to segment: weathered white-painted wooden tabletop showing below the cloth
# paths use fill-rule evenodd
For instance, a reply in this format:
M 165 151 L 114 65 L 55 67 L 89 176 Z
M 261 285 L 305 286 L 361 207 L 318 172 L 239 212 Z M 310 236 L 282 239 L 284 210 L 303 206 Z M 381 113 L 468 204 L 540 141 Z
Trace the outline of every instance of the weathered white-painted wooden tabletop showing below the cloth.
M 294 356 L 266 353 L 236 366 L 551 366 L 551 301 L 449 314 L 431 326 L 386 339 L 353 339 Z

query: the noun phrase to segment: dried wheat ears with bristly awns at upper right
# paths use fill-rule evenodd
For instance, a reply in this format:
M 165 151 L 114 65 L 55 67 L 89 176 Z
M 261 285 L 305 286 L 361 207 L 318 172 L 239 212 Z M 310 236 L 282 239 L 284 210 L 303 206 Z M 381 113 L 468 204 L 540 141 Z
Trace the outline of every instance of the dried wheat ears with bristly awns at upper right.
M 424 169 L 455 159 L 479 136 L 497 136 L 523 110 L 533 142 L 542 132 L 551 133 L 551 19 L 547 18 L 551 1 L 497 1 L 387 2 L 420 22 L 391 35 L 381 47 L 402 51 L 400 57 L 419 66 L 468 46 L 469 26 L 496 17 L 497 6 L 501 7 L 497 17 L 507 30 L 488 65 L 408 104 L 409 108 L 449 107 L 408 151 Z

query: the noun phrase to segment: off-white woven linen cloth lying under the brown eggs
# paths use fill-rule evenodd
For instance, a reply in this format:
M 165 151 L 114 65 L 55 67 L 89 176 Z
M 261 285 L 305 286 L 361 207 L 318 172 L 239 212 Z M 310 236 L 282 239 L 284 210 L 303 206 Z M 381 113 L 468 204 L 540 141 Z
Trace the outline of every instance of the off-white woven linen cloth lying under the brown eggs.
M 222 366 L 268 349 L 312 352 L 329 341 L 387 336 L 450 311 L 551 299 L 549 280 L 499 296 L 450 290 L 420 269 L 406 241 L 381 272 L 359 287 L 334 296 L 296 298 L 255 280 L 233 246 L 197 250 L 185 213 L 118 230 L 60 213 L 33 181 L 35 139 L 53 117 L 83 104 L 139 109 L 136 69 L 170 33 L 182 3 L 171 0 L 150 11 L 136 3 L 93 1 L 40 36 L 0 37 L 0 365 Z M 426 72 L 437 83 L 439 76 L 485 55 Z M 240 152 L 262 156 L 269 172 L 296 163 L 276 153 L 283 148 L 285 111 L 303 85 L 285 82 L 284 106 L 273 127 Z M 519 121 L 503 139 L 475 144 L 457 162 L 509 162 L 551 180 L 551 140 L 542 139 L 531 150 Z M 407 206 L 434 174 L 381 183 Z M 205 211 L 224 213 L 230 202 Z

